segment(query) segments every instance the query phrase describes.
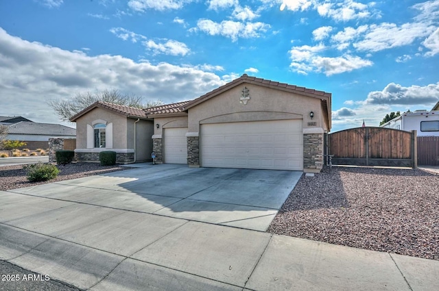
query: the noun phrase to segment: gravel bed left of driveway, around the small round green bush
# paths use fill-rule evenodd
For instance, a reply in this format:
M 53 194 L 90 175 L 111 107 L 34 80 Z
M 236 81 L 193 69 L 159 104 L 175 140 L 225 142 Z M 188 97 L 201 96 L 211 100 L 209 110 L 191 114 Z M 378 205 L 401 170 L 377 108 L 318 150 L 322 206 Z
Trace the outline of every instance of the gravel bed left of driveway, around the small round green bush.
M 75 163 L 58 166 L 60 173 L 55 179 L 31 183 L 27 181 L 26 170 L 23 165 L 0 166 L 0 190 L 10 190 L 23 188 L 38 184 L 52 183 L 56 181 L 82 178 L 92 175 L 115 172 L 117 170 L 127 170 L 129 167 L 122 166 L 101 166 L 99 163 Z

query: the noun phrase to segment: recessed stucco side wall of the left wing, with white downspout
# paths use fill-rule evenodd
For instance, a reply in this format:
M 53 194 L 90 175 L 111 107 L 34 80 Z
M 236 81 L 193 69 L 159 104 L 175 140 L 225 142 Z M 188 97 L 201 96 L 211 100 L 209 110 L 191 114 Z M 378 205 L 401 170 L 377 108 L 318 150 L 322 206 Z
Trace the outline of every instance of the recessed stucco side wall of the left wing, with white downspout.
M 128 118 L 127 121 L 127 144 L 128 149 L 134 149 L 134 122 L 137 118 Z M 152 153 L 152 134 L 154 132 L 153 122 L 139 120 L 136 123 L 136 162 L 151 160 Z

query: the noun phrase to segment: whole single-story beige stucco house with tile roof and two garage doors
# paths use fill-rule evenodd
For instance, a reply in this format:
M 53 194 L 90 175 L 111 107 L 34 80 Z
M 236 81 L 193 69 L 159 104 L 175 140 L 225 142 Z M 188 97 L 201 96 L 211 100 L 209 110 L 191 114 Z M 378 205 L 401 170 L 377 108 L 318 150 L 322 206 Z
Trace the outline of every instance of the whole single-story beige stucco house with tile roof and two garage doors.
M 145 110 L 96 102 L 71 118 L 75 154 L 121 163 L 319 172 L 331 93 L 242 75 L 197 99 Z

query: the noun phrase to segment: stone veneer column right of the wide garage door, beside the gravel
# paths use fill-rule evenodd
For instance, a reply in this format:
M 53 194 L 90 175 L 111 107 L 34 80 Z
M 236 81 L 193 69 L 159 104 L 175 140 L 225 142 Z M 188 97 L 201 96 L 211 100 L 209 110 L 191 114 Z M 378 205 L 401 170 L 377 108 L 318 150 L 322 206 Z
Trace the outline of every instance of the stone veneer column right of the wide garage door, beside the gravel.
M 323 168 L 323 134 L 303 134 L 303 171 L 319 173 Z

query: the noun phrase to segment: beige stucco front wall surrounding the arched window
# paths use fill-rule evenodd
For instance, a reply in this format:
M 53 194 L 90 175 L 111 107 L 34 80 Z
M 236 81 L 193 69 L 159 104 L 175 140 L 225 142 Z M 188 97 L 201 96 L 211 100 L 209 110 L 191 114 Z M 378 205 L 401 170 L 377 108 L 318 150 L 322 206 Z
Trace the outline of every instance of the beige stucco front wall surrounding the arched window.
M 108 123 L 112 123 L 113 149 L 127 149 L 126 116 L 115 114 L 109 110 L 95 108 L 87 112 L 76 121 L 76 148 L 86 149 L 87 147 L 87 125 L 92 125 L 93 121 L 102 119 Z

